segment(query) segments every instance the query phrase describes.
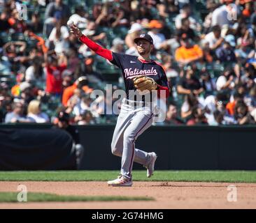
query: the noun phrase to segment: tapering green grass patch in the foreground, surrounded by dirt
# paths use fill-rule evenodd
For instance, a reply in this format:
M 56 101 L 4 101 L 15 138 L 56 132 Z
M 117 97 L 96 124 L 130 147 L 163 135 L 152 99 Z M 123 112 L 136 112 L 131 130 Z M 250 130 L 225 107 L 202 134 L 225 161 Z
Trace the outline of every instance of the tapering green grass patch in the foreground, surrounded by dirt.
M 121 197 L 121 196 L 63 196 L 48 193 L 27 193 L 27 202 L 74 202 L 74 201 L 153 201 L 151 197 Z M 0 192 L 1 202 L 18 202 L 17 193 Z

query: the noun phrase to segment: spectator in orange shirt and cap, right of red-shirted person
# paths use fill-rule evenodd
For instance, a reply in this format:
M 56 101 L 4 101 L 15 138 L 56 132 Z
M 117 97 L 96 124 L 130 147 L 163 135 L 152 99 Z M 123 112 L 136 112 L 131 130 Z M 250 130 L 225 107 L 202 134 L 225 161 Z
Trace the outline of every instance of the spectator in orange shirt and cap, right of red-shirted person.
M 88 81 L 87 77 L 79 77 L 76 82 L 64 89 L 63 95 L 62 95 L 62 105 L 65 107 L 68 105 L 69 98 L 71 98 L 74 94 L 74 91 L 76 89 L 82 89 L 85 91 L 85 93 L 91 93 L 93 89 L 90 89 L 89 86 L 87 86 Z

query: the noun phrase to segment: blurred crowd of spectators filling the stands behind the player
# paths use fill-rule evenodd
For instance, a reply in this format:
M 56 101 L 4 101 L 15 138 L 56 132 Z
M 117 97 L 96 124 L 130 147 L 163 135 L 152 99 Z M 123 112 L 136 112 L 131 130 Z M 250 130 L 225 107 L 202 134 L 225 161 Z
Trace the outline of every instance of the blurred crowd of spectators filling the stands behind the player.
M 27 20 L 22 10 L 27 6 Z M 169 79 L 158 125 L 250 125 L 256 121 L 254 0 L 0 0 L 0 123 L 115 123 L 95 89 L 123 89 L 120 70 L 82 45 L 66 26 L 113 52 L 136 55 L 148 32 L 152 59 Z M 24 17 L 23 17 L 24 18 Z

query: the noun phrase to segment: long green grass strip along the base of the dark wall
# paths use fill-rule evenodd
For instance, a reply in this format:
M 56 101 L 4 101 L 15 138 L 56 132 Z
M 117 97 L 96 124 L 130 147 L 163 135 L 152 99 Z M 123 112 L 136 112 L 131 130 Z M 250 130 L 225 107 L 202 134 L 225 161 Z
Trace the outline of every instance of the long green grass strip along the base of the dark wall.
M 106 181 L 118 171 L 0 171 L 0 181 Z M 256 183 L 256 171 L 133 171 L 133 180 Z

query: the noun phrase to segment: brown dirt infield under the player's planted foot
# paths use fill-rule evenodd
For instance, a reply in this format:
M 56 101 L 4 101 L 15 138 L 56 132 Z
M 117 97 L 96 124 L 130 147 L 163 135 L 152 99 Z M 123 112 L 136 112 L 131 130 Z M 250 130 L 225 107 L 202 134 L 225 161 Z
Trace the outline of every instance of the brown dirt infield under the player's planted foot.
M 155 201 L 0 203 L 0 208 L 256 208 L 256 183 L 134 182 L 133 187 L 108 187 L 106 182 L 0 182 L 0 192 L 62 195 L 148 196 Z M 236 185 L 237 201 L 227 201 L 227 186 Z

